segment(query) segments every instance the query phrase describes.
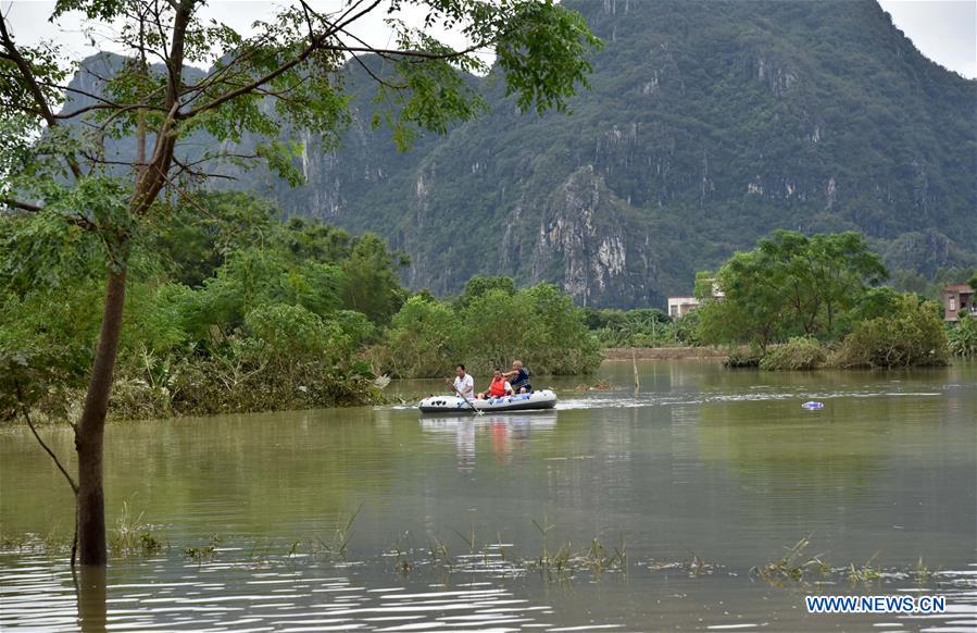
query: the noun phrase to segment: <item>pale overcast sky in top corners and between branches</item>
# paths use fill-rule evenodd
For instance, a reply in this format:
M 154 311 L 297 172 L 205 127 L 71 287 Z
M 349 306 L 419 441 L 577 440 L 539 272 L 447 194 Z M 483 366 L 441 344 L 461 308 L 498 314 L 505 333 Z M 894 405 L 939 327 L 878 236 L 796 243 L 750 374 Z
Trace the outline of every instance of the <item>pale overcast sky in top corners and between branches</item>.
M 965 77 L 977 77 L 977 0 L 879 0 L 879 3 L 923 54 Z M 275 4 L 280 2 L 215 0 L 204 9 L 204 16 L 247 30 L 254 20 L 267 17 Z M 328 11 L 338 9 L 345 2 L 314 0 L 313 4 Z M 76 16 L 63 17 L 61 29 L 48 23 L 53 5 L 52 0 L 0 0 L 0 8 L 8 14 L 17 40 L 28 44 L 55 37 L 79 59 L 93 52 L 82 34 L 80 21 Z M 380 46 L 386 45 L 389 38 L 379 16 L 365 24 L 358 35 Z

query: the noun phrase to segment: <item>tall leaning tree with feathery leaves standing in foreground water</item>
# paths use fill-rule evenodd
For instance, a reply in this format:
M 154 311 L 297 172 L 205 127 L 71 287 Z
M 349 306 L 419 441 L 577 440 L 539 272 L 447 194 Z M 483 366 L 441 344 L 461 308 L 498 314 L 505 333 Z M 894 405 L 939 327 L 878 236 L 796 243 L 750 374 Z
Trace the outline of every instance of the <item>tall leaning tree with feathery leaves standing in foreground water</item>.
M 498 74 L 523 111 L 564 110 L 586 86 L 586 54 L 599 45 L 553 0 L 347 0 L 328 12 L 298 0 L 250 33 L 204 20 L 203 4 L 58 0 L 52 21 L 80 12 L 96 46 L 124 51 L 124 62 L 102 74 L 73 65 L 53 42 L 22 45 L 0 15 L 0 213 L 92 235 L 105 262 L 101 328 L 73 425 L 77 482 L 64 471 L 83 566 L 107 562 L 102 444 L 126 273 L 162 200 L 188 177 L 216 175 L 215 163 L 254 161 L 292 179 L 300 148 L 283 129 L 335 147 L 353 117 L 347 66 L 369 78 L 374 125 L 388 125 L 405 148 L 417 132 L 443 134 L 485 109 L 473 73 Z M 419 26 L 398 17 L 404 12 L 419 12 Z M 377 14 L 394 44 L 362 37 L 358 25 Z M 466 44 L 439 40 L 446 30 Z M 75 72 L 89 80 L 70 83 Z M 191 137 L 213 149 L 186 151 Z M 133 151 L 112 151 L 125 142 Z

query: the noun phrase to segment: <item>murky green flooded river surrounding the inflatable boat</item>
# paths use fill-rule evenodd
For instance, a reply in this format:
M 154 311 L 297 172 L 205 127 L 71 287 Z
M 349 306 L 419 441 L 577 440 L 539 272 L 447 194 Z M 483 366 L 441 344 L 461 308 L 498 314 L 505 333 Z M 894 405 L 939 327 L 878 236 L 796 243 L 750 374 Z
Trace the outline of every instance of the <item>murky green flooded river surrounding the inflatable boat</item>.
M 0 629 L 977 630 L 977 364 L 639 373 L 538 377 L 560 405 L 534 414 L 419 415 L 441 389 L 411 382 L 403 406 L 112 424 L 110 524 L 125 502 L 162 547 L 82 591 L 41 544 L 71 534 L 70 491 L 8 429 Z M 947 610 L 809 615 L 813 594 Z

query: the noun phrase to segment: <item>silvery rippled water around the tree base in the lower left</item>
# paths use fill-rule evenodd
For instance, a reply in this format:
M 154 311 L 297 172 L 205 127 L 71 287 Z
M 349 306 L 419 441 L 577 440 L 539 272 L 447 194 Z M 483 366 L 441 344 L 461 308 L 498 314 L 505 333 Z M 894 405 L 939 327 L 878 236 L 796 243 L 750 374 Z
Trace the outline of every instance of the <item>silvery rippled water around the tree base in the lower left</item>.
M 2 559 L 0 559 L 2 560 Z M 3 561 L 0 570 L 0 629 L 74 631 L 78 607 L 65 561 L 18 569 L 24 557 Z M 12 563 L 12 564 L 10 564 Z M 225 582 L 205 579 L 208 564 L 167 570 L 136 564 L 120 570 L 125 576 L 151 574 L 152 581 L 112 584 L 105 599 L 110 630 L 236 631 L 414 631 L 463 628 L 466 631 L 515 631 L 519 626 L 548 626 L 539 616 L 552 613 L 546 605 L 531 605 L 512 589 L 493 583 L 430 591 L 408 587 L 369 587 L 335 569 L 308 566 L 302 571 L 251 573 Z M 222 567 L 226 568 L 226 564 Z M 22 573 L 21 570 L 29 570 Z M 243 573 L 240 573 L 243 572 Z M 329 575 L 324 576 L 326 572 Z M 174 578 L 174 573 L 183 573 Z M 275 578 L 278 575 L 279 578 Z M 147 592 L 147 589 L 150 589 Z M 255 593 L 254 589 L 260 589 Z

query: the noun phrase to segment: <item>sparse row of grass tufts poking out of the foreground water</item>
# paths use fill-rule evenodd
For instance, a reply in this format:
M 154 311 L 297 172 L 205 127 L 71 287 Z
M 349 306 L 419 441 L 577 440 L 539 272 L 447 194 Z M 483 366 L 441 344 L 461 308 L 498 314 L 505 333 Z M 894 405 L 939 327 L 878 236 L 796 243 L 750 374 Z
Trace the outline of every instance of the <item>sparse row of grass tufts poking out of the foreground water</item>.
M 222 563 L 230 563 L 243 570 L 271 568 L 279 563 L 295 566 L 302 560 L 312 563 L 323 557 L 327 561 L 343 566 L 362 564 L 362 561 L 347 562 L 353 524 L 361 509 L 362 506 L 358 507 L 340 521 L 328 539 L 318 536 L 290 541 L 259 538 L 245 543 L 237 542 L 233 546 L 222 548 L 218 546 L 224 543 L 224 537 L 213 534 L 205 543 L 186 547 L 181 554 L 184 558 L 200 564 L 213 560 L 221 553 L 225 556 L 230 554 L 228 560 L 222 558 Z M 153 532 L 153 528 L 146 523 L 142 517 L 143 513 L 131 510 L 128 502 L 123 504 L 110 541 L 113 556 L 149 557 L 172 548 L 168 542 Z M 427 534 L 418 543 L 409 531 L 404 531 L 384 549 L 381 558 L 391 560 L 391 571 L 401 576 L 427 570 L 442 574 L 442 582 L 447 582 L 452 574 L 469 573 L 488 573 L 492 578 L 536 574 L 544 582 L 555 583 L 572 582 L 580 574 L 588 574 L 591 581 L 600 580 L 605 573 L 628 578 L 630 555 L 623 533 L 618 535 L 616 544 L 604 543 L 594 536 L 585 547 L 575 547 L 568 539 L 554 541 L 556 524 L 547 512 L 541 520 L 531 522 L 541 539 L 540 550 L 536 555 L 521 555 L 514 544 L 503 541 L 501 532 L 496 533 L 494 538 L 479 543 L 473 525 L 467 534 L 453 531 L 464 544 L 461 554 L 452 554 L 450 544 L 436 534 Z M 47 534 L 0 534 L 0 554 L 63 556 L 70 547 L 71 538 L 57 529 L 50 530 Z M 809 554 L 810 547 L 809 535 L 786 547 L 786 551 L 779 558 L 751 568 L 748 575 L 762 580 L 771 586 L 782 588 L 810 588 L 813 584 L 843 580 L 853 585 L 868 584 L 893 578 L 915 581 L 920 586 L 934 582 L 935 572 L 930 571 L 922 557 L 913 568 L 884 569 L 877 561 L 877 554 L 861 564 L 847 563 L 835 567 L 826 562 L 823 555 Z M 726 569 L 722 564 L 705 560 L 692 550 L 689 550 L 689 556 L 690 558 L 686 560 L 676 561 L 654 559 L 639 561 L 637 567 L 644 567 L 649 572 L 678 572 L 689 578 L 711 575 Z M 732 571 L 728 573 L 736 575 Z

